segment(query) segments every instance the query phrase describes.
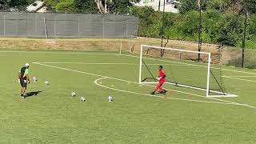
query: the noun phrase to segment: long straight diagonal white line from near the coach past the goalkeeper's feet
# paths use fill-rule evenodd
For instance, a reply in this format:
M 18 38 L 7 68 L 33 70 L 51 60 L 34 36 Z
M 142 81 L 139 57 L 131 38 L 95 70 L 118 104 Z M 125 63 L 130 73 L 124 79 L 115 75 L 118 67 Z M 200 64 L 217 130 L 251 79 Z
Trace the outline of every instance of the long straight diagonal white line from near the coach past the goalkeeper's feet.
M 46 65 L 46 64 L 42 64 L 42 63 L 38 63 L 38 62 L 33 62 L 33 63 L 38 64 L 38 65 L 42 65 L 42 66 L 53 67 L 53 68 L 56 68 L 56 69 L 73 71 L 73 72 L 81 73 L 81 74 L 89 74 L 89 75 L 94 75 L 94 76 L 98 76 L 98 77 L 102 77 L 102 78 L 110 78 L 110 79 L 114 79 L 114 80 L 118 80 L 118 81 L 122 81 L 122 82 L 130 82 L 130 81 L 119 79 L 119 78 L 111 78 L 111 77 L 107 77 L 107 76 L 103 76 L 103 75 L 99 75 L 99 74 L 91 74 L 91 73 L 87 73 L 87 72 L 83 72 L 83 71 L 71 70 L 71 69 L 66 69 L 66 68 L 58 67 L 58 66 L 50 66 L 50 65 Z M 150 86 L 150 85 L 146 85 L 146 84 L 139 84 L 138 82 L 130 82 L 130 83 L 134 83 L 134 84 L 138 84 L 138 85 L 144 85 L 144 86 Z M 170 89 L 166 89 L 166 90 L 170 90 Z M 182 93 L 182 94 L 190 94 L 190 95 L 206 98 L 205 96 L 202 96 L 202 95 L 199 95 L 199 94 L 186 93 L 186 92 L 179 91 L 179 90 L 172 90 L 172 91 Z M 222 99 L 218 99 L 218 98 L 210 98 L 210 99 L 214 99 L 214 100 L 221 101 L 221 102 L 228 102 L 228 103 L 232 103 L 234 105 L 239 105 L 239 106 L 247 106 L 247 107 L 256 108 L 255 106 L 250 106 L 250 105 L 247 105 L 247 104 L 241 104 L 241 103 L 237 103 L 237 102 L 230 102 L 230 101 L 226 101 L 226 100 L 222 100 Z

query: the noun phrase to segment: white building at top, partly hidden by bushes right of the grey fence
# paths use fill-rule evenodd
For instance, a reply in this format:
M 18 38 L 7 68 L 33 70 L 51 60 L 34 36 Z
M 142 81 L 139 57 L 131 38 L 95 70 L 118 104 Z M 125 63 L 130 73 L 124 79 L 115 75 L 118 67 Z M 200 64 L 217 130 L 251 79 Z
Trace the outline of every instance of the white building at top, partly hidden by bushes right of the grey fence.
M 176 0 L 141 0 L 141 2 L 138 2 L 135 4 L 135 6 L 151 6 L 154 10 L 163 10 L 163 4 L 164 1 L 166 1 L 166 12 L 170 13 L 179 13 L 178 6 L 180 5 L 180 2 Z

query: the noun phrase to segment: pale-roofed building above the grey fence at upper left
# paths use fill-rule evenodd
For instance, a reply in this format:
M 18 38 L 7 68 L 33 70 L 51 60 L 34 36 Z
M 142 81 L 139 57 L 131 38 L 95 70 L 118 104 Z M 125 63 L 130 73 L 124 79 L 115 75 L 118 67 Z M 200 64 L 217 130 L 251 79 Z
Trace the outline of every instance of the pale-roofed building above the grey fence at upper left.
M 28 12 L 38 12 L 38 13 L 46 13 L 48 12 L 48 6 L 46 2 L 35 1 L 30 6 L 26 7 L 26 11 Z

